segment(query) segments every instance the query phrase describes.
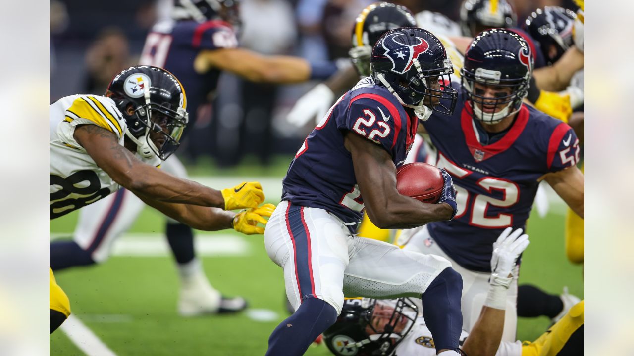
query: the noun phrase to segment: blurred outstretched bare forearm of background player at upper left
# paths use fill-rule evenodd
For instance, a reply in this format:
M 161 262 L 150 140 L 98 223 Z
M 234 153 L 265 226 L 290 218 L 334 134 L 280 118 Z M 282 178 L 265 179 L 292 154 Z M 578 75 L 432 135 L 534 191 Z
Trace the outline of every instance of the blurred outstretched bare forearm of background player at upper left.
M 218 49 L 204 52 L 211 67 L 240 75 L 252 82 L 288 84 L 310 78 L 308 61 L 292 56 L 263 56 L 243 48 Z

